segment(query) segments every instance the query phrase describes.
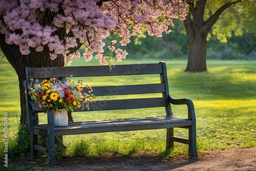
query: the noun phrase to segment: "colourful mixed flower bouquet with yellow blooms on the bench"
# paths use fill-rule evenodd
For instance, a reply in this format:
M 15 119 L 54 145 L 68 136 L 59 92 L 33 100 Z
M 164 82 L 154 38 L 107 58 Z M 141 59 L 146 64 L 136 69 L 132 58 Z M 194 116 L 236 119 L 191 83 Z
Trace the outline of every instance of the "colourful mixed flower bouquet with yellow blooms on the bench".
M 38 102 L 39 107 L 66 109 L 74 111 L 76 108 L 82 107 L 89 110 L 89 103 L 93 102 L 95 96 L 92 93 L 92 87 L 87 85 L 83 90 L 82 80 L 75 83 L 71 78 L 66 81 L 58 79 L 35 80 L 31 78 L 28 87 L 28 93 L 31 100 Z

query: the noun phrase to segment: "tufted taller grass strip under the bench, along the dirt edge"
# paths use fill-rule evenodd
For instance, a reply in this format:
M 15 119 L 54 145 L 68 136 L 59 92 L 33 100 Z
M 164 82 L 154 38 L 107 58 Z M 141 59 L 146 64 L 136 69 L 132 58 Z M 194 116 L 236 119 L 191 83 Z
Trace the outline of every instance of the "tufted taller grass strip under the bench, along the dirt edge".
M 157 151 L 161 153 L 165 150 L 164 141 L 148 140 L 146 138 L 132 138 L 129 141 L 116 139 L 84 140 L 84 136 L 75 138 L 74 142 L 68 145 L 69 155 L 74 156 L 99 156 L 106 153 L 118 153 L 121 156 L 132 155 L 136 152 L 147 154 Z M 150 143 L 148 143 L 150 141 Z

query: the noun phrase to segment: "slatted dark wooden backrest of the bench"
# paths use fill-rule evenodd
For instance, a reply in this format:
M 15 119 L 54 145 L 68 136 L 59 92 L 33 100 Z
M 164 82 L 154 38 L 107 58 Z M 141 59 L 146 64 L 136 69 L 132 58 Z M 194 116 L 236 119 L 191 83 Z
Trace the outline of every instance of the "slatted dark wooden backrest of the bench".
M 113 84 L 93 87 L 93 94 L 96 96 L 96 102 L 90 104 L 90 111 L 101 110 L 118 110 L 118 109 L 139 109 L 165 107 L 166 114 L 172 115 L 170 104 L 167 99 L 168 81 L 165 62 L 150 63 L 150 64 L 135 64 L 135 65 L 116 65 L 112 66 L 82 66 L 82 67 L 45 67 L 45 68 L 26 68 L 27 79 L 45 79 L 53 77 L 92 77 L 96 79 L 98 76 L 125 76 L 125 85 Z M 160 75 L 159 82 L 148 83 L 151 77 L 147 80 L 140 80 L 138 84 L 130 84 L 132 75 Z M 156 77 L 156 76 L 155 76 Z M 81 78 L 83 81 L 84 79 Z M 100 79 L 100 78 L 99 78 Z M 85 80 L 84 82 L 87 83 Z M 134 83 L 134 81 L 132 81 Z M 160 93 L 162 96 L 155 96 L 154 93 Z M 132 98 L 132 99 L 108 99 L 97 100 L 100 96 L 116 96 L 116 95 L 141 95 L 152 94 L 150 98 Z M 74 112 L 81 111 L 76 109 Z M 84 110 L 87 111 L 87 110 Z

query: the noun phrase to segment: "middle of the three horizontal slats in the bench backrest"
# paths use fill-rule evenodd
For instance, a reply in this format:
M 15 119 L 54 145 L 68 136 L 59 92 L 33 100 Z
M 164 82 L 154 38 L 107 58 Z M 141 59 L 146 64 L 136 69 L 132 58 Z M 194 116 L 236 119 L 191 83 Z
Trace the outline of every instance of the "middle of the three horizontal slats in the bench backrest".
M 86 88 L 83 88 L 86 92 Z M 100 86 L 93 87 L 94 96 L 113 96 L 129 94 L 163 93 L 165 92 L 164 83 L 136 84 L 125 86 Z

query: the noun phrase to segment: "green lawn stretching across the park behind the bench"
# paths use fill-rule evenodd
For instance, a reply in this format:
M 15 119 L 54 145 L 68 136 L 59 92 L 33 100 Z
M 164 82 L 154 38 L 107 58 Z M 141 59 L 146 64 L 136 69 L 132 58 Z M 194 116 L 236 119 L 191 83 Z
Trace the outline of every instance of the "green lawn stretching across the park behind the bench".
M 3 130 L 4 113 L 8 113 L 10 136 L 18 130 L 20 117 L 19 88 L 17 75 L 7 59 L 1 60 L 0 68 L 0 129 Z M 206 73 L 184 73 L 186 60 L 165 60 L 169 81 L 169 91 L 174 98 L 190 98 L 194 101 L 197 117 L 198 148 L 228 148 L 256 146 L 255 112 L 256 112 L 256 61 L 224 61 L 208 60 Z M 159 60 L 125 59 L 120 65 L 129 63 L 155 63 Z M 114 64 L 114 63 L 113 63 Z M 82 58 L 73 60 L 72 66 L 99 65 L 98 61 L 83 61 Z M 122 77 L 104 81 L 122 82 Z M 132 81 L 132 79 L 130 80 Z M 94 80 L 83 80 L 93 86 Z M 178 116 L 186 115 L 186 108 L 174 106 L 173 111 Z M 119 111 L 118 111 L 119 112 Z M 89 119 L 111 119 L 120 115 L 118 112 L 102 112 L 100 116 L 88 112 L 74 114 L 74 120 L 81 117 Z M 126 116 L 149 115 L 161 113 L 159 109 L 126 111 Z M 45 120 L 45 115 L 40 116 Z M 83 120 L 84 120 L 83 119 Z M 183 129 L 176 129 L 178 136 L 186 136 Z M 0 138 L 3 136 L 3 131 Z M 164 144 L 164 130 L 132 131 L 120 133 L 101 133 L 79 135 L 80 139 L 95 142 L 129 142 L 143 140 L 161 142 Z M 69 144 L 78 136 L 65 136 Z M 146 141 L 144 141 L 146 140 Z M 121 144 L 121 142 L 120 142 Z M 97 146 L 97 145 L 96 145 Z M 154 147 L 153 147 L 154 148 Z M 164 148 L 164 147 L 163 147 Z

